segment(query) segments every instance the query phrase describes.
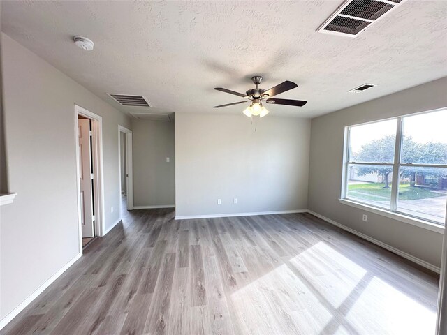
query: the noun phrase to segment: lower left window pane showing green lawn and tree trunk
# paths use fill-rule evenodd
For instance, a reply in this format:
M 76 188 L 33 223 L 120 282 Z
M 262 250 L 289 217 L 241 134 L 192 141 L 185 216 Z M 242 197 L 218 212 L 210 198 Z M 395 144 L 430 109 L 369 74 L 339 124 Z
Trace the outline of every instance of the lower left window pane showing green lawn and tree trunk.
M 349 165 L 346 198 L 390 209 L 393 167 Z

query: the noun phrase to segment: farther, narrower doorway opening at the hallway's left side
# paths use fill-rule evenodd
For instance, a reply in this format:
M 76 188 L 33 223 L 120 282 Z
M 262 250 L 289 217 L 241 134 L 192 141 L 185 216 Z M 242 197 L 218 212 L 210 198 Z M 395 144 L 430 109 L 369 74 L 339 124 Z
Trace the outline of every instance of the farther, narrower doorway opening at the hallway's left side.
M 121 190 L 120 214 L 133 209 L 132 131 L 118 126 L 119 138 L 119 188 Z

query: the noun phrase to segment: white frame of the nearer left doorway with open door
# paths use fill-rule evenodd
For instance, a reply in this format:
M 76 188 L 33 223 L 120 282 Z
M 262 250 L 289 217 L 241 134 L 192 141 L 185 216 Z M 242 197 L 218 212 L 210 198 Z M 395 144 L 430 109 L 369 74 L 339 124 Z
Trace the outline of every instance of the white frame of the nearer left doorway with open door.
M 78 116 L 87 117 L 91 121 L 91 157 L 93 158 L 93 201 L 95 211 L 95 235 L 104 236 L 105 211 L 104 211 L 104 181 L 103 181 L 103 118 L 75 105 L 75 154 L 76 154 L 76 186 L 78 189 L 78 232 L 79 252 L 82 255 L 82 225 L 81 225 L 81 200 L 80 200 L 80 171 L 79 171 L 79 124 Z

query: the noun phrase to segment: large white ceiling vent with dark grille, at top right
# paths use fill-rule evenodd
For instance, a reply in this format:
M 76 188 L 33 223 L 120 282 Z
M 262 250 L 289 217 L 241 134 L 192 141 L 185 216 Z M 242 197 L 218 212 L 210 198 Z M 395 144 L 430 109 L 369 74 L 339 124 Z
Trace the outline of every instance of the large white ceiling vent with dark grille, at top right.
M 406 0 L 347 0 L 316 31 L 356 37 Z

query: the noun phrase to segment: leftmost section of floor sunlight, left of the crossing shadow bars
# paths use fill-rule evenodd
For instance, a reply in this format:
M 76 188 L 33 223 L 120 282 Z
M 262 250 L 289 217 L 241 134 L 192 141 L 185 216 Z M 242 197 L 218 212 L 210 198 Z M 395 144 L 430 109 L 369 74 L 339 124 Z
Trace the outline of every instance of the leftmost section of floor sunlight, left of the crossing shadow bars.
M 332 318 L 287 265 L 237 290 L 231 299 L 244 334 L 318 334 Z

